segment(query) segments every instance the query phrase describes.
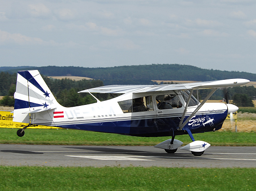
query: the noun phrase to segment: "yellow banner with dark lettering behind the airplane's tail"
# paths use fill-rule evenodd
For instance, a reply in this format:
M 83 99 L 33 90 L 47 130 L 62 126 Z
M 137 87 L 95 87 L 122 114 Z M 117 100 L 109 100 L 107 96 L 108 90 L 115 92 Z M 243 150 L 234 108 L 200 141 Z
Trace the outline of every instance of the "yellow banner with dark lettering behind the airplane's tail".
M 27 123 L 13 122 L 13 113 L 10 111 L 0 111 L 0 127 L 1 128 L 22 128 L 27 126 Z M 59 127 L 52 126 L 30 126 L 31 129 L 60 129 Z

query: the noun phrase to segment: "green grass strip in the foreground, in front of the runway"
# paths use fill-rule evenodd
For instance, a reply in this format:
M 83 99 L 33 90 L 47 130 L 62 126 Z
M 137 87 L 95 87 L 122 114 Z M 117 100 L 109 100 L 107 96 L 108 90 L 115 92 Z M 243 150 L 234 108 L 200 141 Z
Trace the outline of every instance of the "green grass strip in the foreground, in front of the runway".
M 255 190 L 256 168 L 0 166 L 0 190 Z

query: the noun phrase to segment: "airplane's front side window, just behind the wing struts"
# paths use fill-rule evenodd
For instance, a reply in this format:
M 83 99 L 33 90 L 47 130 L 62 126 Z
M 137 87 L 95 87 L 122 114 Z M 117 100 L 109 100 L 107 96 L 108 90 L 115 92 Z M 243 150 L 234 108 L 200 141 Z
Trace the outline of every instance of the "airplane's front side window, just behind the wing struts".
M 176 109 L 182 107 L 180 99 L 175 94 L 157 95 L 156 101 L 158 109 Z

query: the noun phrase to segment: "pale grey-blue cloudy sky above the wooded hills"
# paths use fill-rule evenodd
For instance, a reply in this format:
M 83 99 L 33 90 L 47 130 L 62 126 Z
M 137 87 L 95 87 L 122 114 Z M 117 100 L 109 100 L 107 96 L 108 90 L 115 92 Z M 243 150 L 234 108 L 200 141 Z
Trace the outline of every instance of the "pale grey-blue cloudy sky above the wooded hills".
M 256 74 L 255 61 L 255 0 L 0 0 L 0 66 L 181 64 Z

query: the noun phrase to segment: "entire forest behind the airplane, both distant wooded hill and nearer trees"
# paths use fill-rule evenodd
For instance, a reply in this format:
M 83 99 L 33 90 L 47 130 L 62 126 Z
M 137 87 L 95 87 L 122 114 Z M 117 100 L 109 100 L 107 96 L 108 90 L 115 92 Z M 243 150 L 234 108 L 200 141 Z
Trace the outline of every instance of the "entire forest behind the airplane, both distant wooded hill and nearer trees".
M 66 107 L 90 104 L 95 100 L 86 93 L 78 94 L 78 91 L 113 84 L 154 84 L 151 80 L 192 80 L 210 81 L 225 78 L 246 78 L 256 81 L 256 74 L 245 72 L 228 72 L 220 70 L 200 69 L 190 65 L 138 65 L 118 66 L 109 68 L 83 68 L 83 67 L 0 67 L 0 96 L 5 96 L 1 105 L 12 106 L 14 104 L 13 94 L 16 88 L 17 71 L 24 69 L 38 69 L 46 84 L 55 95 L 57 101 Z M 197 74 L 196 74 L 197 73 Z M 206 75 L 207 74 L 207 75 Z M 82 76 L 96 80 L 53 79 L 47 76 Z M 202 100 L 210 90 L 199 90 L 199 99 Z M 236 95 L 239 94 L 239 95 Z M 236 95 L 236 96 L 235 96 Z M 242 96 L 243 95 L 243 96 Z M 106 100 L 111 95 L 96 94 L 99 100 Z M 197 96 L 197 95 L 196 95 Z M 241 96 L 243 98 L 241 98 Z M 244 97 L 246 96 L 246 97 Z M 228 88 L 228 97 L 233 100 L 249 99 L 256 97 L 256 88 L 253 86 Z M 222 100 L 225 98 L 222 89 L 217 90 L 211 100 Z M 252 105 L 251 105 L 252 106 Z

